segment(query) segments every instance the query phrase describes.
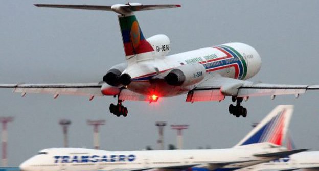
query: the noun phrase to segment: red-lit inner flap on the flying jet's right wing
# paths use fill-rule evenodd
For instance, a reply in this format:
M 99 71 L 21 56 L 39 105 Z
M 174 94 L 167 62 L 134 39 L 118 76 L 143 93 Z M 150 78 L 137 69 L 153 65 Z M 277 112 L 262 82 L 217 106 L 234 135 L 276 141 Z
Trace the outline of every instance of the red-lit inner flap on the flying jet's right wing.
M 220 89 L 192 90 L 188 92 L 186 102 L 221 101 L 224 99 L 225 95 L 220 92 Z

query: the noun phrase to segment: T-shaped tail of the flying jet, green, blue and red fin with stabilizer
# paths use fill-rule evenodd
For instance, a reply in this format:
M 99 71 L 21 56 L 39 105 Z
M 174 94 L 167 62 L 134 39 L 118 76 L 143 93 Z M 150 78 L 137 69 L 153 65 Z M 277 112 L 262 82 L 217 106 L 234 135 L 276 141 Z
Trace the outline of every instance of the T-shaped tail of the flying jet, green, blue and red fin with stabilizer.
M 114 11 L 120 14 L 119 22 L 122 32 L 124 51 L 126 59 L 130 59 L 136 54 L 152 52 L 153 47 L 146 41 L 138 20 L 136 20 L 133 12 L 144 10 L 156 10 L 164 8 L 180 7 L 177 4 L 161 4 L 161 5 L 142 5 L 140 3 L 115 4 L 112 6 L 97 6 L 97 5 L 62 5 L 62 4 L 34 4 L 37 7 L 49 8 L 71 8 L 82 10 L 101 10 Z

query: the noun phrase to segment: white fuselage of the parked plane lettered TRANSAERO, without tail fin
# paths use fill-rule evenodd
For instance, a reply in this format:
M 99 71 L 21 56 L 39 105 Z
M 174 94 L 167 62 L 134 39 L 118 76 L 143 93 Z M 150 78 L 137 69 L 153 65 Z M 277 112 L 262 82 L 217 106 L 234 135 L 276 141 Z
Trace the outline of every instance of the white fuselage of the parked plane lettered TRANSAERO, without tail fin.
M 249 161 L 228 165 L 225 168 L 242 168 L 269 161 L 255 157 L 265 152 L 269 144 L 252 144 L 229 149 L 209 150 L 154 150 L 104 151 L 80 148 L 44 149 L 20 165 L 22 171 L 95 171 L 113 169 L 163 168 L 170 166 L 199 165 L 224 161 Z M 272 148 L 267 151 L 277 152 Z M 218 165 L 219 166 L 219 165 Z M 219 166 L 220 167 L 220 166 Z

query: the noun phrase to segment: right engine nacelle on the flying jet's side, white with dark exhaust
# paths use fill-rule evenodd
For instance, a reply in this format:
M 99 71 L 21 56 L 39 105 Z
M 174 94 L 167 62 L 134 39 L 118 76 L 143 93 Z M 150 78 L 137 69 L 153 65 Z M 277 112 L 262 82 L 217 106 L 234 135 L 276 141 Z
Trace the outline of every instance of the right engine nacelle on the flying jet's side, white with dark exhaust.
M 164 77 L 164 81 L 172 86 L 185 87 L 199 83 L 205 78 L 205 75 L 205 67 L 199 63 L 193 63 L 172 69 Z

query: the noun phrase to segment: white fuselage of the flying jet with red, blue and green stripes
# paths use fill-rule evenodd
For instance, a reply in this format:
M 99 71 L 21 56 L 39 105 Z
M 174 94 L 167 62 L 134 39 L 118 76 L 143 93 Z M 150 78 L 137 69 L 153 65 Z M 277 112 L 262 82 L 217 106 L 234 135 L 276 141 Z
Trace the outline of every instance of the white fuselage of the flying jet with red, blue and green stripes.
M 171 86 L 163 79 L 150 79 L 155 75 L 165 74 L 172 68 L 196 63 L 204 67 L 204 73 L 191 71 L 189 77 L 202 76 L 202 80 L 216 74 L 245 80 L 255 76 L 261 67 L 260 56 L 252 46 L 244 43 L 226 43 L 170 56 L 157 55 L 156 51 L 139 54 L 136 59 L 128 60 L 128 67 L 123 73 L 129 74 L 132 78 L 132 82 L 127 86 L 131 91 L 144 95 L 156 94 L 159 97 L 175 96 L 187 93 L 201 81 L 185 86 Z

